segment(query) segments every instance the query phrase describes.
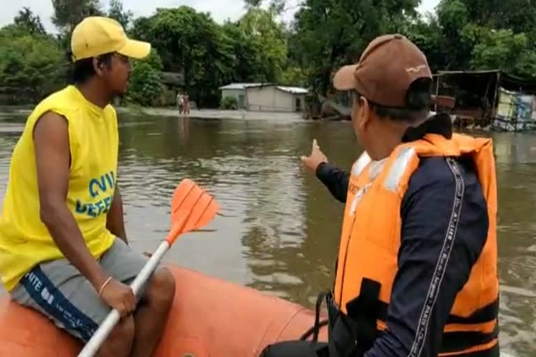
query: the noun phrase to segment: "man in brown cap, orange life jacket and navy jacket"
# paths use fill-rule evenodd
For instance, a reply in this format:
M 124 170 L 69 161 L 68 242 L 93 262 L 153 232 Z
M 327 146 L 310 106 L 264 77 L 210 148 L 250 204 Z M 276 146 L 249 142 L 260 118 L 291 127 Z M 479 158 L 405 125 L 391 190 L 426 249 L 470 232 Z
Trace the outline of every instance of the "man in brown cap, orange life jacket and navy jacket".
M 431 70 L 401 35 L 336 73 L 364 153 L 352 166 L 336 278 L 320 294 L 328 341 L 262 356 L 498 357 L 496 176 L 491 139 L 428 117 Z

